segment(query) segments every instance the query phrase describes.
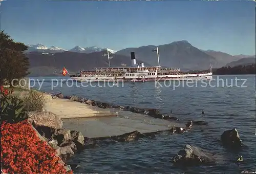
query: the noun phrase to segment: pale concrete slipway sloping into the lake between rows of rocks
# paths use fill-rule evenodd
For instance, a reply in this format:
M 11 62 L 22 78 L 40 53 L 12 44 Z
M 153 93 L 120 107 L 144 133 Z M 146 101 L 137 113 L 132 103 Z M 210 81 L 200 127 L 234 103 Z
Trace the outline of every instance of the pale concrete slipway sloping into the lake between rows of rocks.
M 177 122 L 154 119 L 150 116 L 136 114 L 118 109 L 103 109 L 69 99 L 52 99 L 45 95 L 46 110 L 58 115 L 63 127 L 77 130 L 89 138 L 117 136 L 138 130 L 140 133 L 166 130 Z

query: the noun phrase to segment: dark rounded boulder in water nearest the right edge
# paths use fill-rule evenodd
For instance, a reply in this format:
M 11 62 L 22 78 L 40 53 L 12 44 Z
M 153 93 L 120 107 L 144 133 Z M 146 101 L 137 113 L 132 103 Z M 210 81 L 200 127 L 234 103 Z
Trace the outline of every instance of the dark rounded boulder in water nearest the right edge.
M 231 148 L 239 148 L 242 146 L 242 140 L 240 140 L 237 128 L 225 130 L 221 135 L 221 141 L 223 145 Z

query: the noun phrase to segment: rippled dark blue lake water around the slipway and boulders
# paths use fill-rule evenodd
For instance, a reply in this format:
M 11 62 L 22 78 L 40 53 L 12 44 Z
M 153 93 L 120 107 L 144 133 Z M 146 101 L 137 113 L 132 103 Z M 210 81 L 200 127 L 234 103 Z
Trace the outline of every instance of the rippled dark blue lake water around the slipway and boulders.
M 207 86 L 202 82 L 198 82 L 197 86 L 195 82 L 189 83 L 190 87 L 186 84 L 178 86 L 176 82 L 175 88 L 173 83 L 170 86 L 164 86 L 163 82 L 157 85 L 155 82 L 145 82 L 124 83 L 123 87 L 119 85 L 82 88 L 81 86 L 68 87 L 71 82 L 58 82 L 56 86 L 56 81 L 53 81 L 56 86 L 53 90 L 51 89 L 52 78 L 56 77 L 34 77 L 40 81 L 45 79 L 42 83 L 42 91 L 62 92 L 64 95 L 76 95 L 120 105 L 159 108 L 161 113 L 169 113 L 173 110 L 173 115 L 181 121 L 202 120 L 209 123 L 208 126 L 195 126 L 183 135 L 162 134 L 157 135 L 155 139 L 102 144 L 97 148 L 85 149 L 72 159 L 74 163 L 81 166 L 77 172 L 169 173 L 255 170 L 254 75 L 214 76 L 215 80 Z M 62 77 L 58 79 L 60 78 Z M 240 79 L 237 80 L 237 85 L 236 78 Z M 35 88 L 38 89 L 38 84 Z M 205 111 L 204 116 L 201 110 Z M 243 143 L 247 146 L 237 152 L 224 148 L 219 142 L 224 130 L 234 127 L 237 127 Z M 186 144 L 218 153 L 222 158 L 212 166 L 176 167 L 171 160 Z M 239 165 L 234 162 L 238 154 L 244 158 Z

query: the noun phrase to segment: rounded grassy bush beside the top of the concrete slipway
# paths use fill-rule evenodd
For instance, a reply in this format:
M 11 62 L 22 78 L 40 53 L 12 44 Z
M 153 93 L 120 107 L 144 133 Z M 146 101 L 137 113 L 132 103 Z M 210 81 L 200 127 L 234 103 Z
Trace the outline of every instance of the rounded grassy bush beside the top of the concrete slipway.
M 29 90 L 28 94 L 24 97 L 27 111 L 41 112 L 45 106 L 45 97 L 43 93 L 36 90 Z

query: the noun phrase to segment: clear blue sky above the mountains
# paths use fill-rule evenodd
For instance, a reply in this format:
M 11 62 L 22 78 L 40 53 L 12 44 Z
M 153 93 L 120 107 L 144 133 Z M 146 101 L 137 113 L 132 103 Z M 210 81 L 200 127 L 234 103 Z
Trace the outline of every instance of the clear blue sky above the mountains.
M 199 49 L 255 54 L 253 1 L 44 1 L 1 3 L 15 41 L 120 50 L 188 40 Z

